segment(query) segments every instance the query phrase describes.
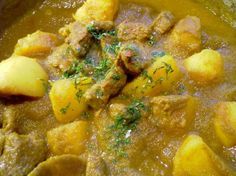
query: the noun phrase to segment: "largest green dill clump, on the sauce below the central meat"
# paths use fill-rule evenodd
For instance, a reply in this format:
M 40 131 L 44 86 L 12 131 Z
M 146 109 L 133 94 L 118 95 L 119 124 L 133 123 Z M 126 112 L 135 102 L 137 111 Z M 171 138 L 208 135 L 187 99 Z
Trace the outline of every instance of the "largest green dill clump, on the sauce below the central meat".
M 118 156 L 127 156 L 124 148 L 130 144 L 131 132 L 136 129 L 143 110 L 147 110 L 145 104 L 141 100 L 133 100 L 124 113 L 116 116 L 114 124 L 109 127 L 114 138 L 110 148 Z

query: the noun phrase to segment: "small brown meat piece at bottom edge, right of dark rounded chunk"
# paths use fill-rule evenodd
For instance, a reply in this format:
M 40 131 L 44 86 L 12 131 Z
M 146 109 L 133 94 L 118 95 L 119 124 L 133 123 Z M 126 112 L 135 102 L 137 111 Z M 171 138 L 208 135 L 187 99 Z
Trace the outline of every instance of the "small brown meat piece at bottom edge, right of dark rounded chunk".
M 108 175 L 106 163 L 97 154 L 90 154 L 88 156 L 86 176 L 106 176 Z

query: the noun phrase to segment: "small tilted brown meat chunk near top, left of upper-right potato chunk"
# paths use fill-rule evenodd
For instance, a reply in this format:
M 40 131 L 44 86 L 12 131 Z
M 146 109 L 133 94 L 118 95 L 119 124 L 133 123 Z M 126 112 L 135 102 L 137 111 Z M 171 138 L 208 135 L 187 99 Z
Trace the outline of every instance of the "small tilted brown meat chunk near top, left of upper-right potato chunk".
M 175 23 L 174 15 L 169 11 L 161 12 L 151 25 L 152 34 L 159 38 L 162 34 L 168 32 Z

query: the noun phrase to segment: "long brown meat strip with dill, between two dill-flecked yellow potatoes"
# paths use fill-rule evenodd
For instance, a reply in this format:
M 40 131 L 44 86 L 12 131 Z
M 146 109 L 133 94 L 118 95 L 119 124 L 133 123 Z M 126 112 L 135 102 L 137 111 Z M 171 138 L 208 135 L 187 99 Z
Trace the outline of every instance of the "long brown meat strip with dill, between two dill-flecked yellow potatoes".
M 99 109 L 107 104 L 109 98 L 116 95 L 126 83 L 127 76 L 120 66 L 113 66 L 105 78 L 93 85 L 84 97 L 89 106 Z

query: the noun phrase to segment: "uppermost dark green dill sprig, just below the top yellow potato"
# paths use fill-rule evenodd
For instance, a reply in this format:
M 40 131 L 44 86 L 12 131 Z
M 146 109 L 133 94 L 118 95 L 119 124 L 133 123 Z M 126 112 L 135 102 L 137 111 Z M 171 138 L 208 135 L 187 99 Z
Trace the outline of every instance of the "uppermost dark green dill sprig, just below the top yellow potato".
M 97 40 L 101 40 L 105 35 L 115 36 L 115 30 L 99 30 L 93 24 L 87 26 L 88 32 Z

